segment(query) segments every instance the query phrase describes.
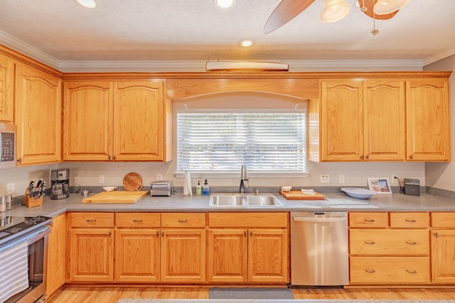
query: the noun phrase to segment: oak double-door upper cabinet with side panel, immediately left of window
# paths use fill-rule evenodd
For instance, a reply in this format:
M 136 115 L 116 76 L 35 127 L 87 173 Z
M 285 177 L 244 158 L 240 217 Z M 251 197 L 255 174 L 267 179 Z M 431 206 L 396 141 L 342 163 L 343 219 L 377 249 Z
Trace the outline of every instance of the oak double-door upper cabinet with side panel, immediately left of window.
M 171 160 L 171 112 L 164 82 L 65 82 L 63 159 Z

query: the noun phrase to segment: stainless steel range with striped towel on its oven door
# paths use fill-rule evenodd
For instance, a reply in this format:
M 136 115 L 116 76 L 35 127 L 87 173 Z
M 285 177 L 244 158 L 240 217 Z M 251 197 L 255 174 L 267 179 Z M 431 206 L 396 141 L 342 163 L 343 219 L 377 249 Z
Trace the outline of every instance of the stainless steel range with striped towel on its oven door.
M 45 301 L 50 224 L 46 216 L 0 218 L 0 302 Z

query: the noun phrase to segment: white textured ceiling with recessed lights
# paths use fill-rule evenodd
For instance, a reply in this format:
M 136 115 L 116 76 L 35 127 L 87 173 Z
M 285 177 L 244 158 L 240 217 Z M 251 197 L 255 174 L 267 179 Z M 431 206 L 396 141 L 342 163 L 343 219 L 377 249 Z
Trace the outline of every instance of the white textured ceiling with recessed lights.
M 322 0 L 277 31 L 262 30 L 280 0 L 1 0 L 0 43 L 53 67 L 82 62 L 205 60 L 417 60 L 455 54 L 455 0 L 411 0 L 395 17 L 376 21 L 355 0 L 346 18 L 321 23 Z M 297 1 L 297 0 L 296 0 Z M 240 40 L 255 45 L 241 48 Z M 123 62 L 125 64 L 125 62 Z M 131 62 L 133 63 L 133 62 Z M 61 70 L 61 68 L 60 68 Z

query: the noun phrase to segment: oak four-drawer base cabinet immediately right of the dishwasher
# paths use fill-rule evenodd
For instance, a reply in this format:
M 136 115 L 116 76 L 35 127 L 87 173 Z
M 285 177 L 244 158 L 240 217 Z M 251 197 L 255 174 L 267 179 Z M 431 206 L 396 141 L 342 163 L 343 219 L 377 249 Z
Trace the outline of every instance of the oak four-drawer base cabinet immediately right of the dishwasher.
M 431 280 L 429 213 L 349 213 L 350 285 Z

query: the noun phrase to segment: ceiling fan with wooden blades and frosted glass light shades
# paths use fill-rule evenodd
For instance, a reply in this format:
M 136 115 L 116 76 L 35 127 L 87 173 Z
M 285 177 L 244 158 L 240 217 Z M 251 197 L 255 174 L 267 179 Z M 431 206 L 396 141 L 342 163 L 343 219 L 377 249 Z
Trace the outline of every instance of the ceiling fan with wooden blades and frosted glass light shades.
M 282 0 L 265 23 L 264 33 L 272 33 L 307 9 L 315 0 Z M 347 0 L 322 0 L 323 11 L 319 18 L 331 23 L 344 18 L 350 11 Z M 360 11 L 367 16 L 387 20 L 395 16 L 410 0 L 357 0 Z

